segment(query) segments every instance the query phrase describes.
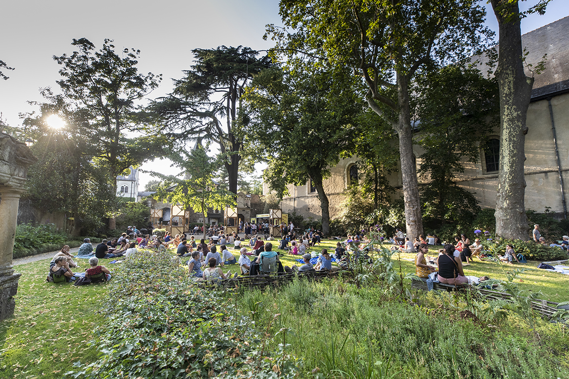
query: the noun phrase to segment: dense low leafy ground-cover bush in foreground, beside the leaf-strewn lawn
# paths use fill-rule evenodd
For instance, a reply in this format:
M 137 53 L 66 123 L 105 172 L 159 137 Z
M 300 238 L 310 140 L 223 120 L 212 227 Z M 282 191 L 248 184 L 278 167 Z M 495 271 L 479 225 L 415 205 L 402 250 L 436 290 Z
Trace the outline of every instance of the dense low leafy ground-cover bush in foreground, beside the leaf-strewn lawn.
M 96 332 L 100 359 L 73 377 L 294 378 L 298 362 L 266 347 L 220 290 L 197 286 L 171 256 L 129 257 L 109 283 L 108 322 Z

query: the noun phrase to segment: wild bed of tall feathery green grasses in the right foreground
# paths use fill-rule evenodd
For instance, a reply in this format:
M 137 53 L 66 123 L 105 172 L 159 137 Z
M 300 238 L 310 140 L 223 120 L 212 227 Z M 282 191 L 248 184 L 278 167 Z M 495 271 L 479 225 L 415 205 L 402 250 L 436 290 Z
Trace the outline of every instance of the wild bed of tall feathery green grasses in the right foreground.
M 298 285 L 301 287 L 298 288 Z M 294 288 L 289 289 L 292 286 Z M 292 303 L 310 294 L 310 306 Z M 431 294 L 433 298 L 438 295 Z M 452 301 L 460 298 L 452 296 Z M 287 339 L 305 364 L 301 377 L 316 378 L 533 378 L 566 377 L 554 351 L 532 343 L 526 328 L 510 328 L 513 320 L 492 327 L 463 319 L 435 299 L 432 308 L 386 296 L 377 286 L 339 280 L 300 282 L 279 289 L 253 291 L 259 330 L 294 330 Z M 248 312 L 248 307 L 241 306 Z M 280 315 L 274 320 L 273 312 Z M 452 316 L 449 316 L 451 313 Z M 464 313 L 463 313 L 464 314 Z M 466 313 L 468 314 L 468 313 Z M 315 316 L 316 315 L 316 316 Z M 272 322 L 272 324 L 271 324 Z M 508 327 L 506 324 L 508 323 Z M 539 327 L 549 327 L 537 320 Z M 495 326 L 498 326 L 496 328 Z M 504 326 L 501 328 L 501 326 Z M 517 326 L 517 325 L 516 325 Z M 276 341 L 275 341 L 276 342 Z M 372 359 L 370 359 L 372 357 Z

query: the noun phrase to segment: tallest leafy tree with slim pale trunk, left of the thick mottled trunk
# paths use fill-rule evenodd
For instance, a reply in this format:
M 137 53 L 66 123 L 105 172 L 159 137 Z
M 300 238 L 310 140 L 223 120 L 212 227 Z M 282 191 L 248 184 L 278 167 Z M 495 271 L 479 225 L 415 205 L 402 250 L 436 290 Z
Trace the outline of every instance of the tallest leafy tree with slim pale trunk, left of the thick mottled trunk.
M 362 76 L 370 109 L 399 136 L 407 234 L 423 232 L 413 157 L 413 81 L 428 64 L 448 64 L 481 47 L 477 0 L 283 0 L 284 28 L 269 26 L 275 53 L 325 59 Z

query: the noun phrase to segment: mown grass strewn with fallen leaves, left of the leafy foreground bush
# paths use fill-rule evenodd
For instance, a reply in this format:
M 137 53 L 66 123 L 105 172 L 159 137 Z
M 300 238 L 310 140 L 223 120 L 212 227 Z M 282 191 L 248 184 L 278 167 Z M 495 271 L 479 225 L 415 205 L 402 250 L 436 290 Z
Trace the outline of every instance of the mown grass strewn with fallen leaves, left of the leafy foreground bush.
M 0 378 L 61 378 L 76 361 L 97 357 L 86 343 L 105 322 L 98 310 L 106 285 L 46 283 L 49 261 L 15 266 L 22 277 L 14 316 L 0 322 Z

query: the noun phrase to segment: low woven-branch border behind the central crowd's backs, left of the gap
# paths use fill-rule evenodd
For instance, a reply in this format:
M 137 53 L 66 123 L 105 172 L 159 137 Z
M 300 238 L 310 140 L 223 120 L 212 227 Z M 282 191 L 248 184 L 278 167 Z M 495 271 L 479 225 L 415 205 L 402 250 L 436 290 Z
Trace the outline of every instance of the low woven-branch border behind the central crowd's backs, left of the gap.
M 279 286 L 287 284 L 296 277 L 306 280 L 321 280 L 322 278 L 332 278 L 339 276 L 353 278 L 354 273 L 352 270 L 344 268 L 335 268 L 331 270 L 321 270 L 321 271 L 308 271 L 304 273 L 302 272 L 272 273 L 265 275 L 240 276 L 237 278 L 224 280 L 220 284 L 225 288 L 238 286 L 246 288 L 258 288 L 263 290 L 266 288 L 266 286 Z

